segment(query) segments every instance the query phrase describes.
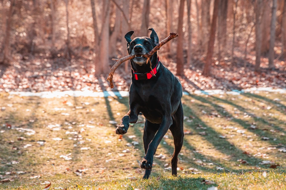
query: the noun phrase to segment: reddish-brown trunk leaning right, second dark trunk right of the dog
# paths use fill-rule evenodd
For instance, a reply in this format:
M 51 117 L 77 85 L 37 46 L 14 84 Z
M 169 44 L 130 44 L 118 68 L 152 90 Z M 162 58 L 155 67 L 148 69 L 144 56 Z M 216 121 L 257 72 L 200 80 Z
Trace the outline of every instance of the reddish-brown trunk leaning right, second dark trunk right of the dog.
M 205 75 L 206 77 L 210 76 L 211 68 L 212 68 L 212 54 L 214 52 L 214 45 L 215 45 L 215 31 L 216 31 L 216 26 L 217 26 L 218 1 L 219 0 L 215 0 L 215 3 L 214 3 L 212 26 L 211 26 L 211 31 L 209 35 L 208 53 L 206 56 L 206 64 L 203 69 L 203 75 Z

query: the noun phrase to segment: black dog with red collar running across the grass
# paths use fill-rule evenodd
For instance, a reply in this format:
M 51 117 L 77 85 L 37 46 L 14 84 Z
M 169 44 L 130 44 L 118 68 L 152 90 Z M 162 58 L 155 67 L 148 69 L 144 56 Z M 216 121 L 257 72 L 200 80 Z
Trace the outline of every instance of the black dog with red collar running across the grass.
M 129 94 L 129 112 L 122 118 L 116 128 L 116 134 L 125 134 L 129 123 L 136 123 L 141 112 L 145 119 L 143 142 L 145 157 L 140 167 L 146 169 L 143 178 L 148 179 L 151 173 L 153 156 L 168 129 L 172 132 L 175 150 L 172 156 L 172 175 L 177 175 L 178 154 L 184 138 L 183 106 L 181 102 L 182 86 L 180 80 L 159 61 L 157 52 L 150 62 L 142 55 L 149 53 L 159 43 L 154 29 L 149 37 L 136 37 L 131 40 L 134 31 L 125 34 L 127 50 L 131 59 L 132 79 Z M 152 74 L 156 75 L 153 76 Z

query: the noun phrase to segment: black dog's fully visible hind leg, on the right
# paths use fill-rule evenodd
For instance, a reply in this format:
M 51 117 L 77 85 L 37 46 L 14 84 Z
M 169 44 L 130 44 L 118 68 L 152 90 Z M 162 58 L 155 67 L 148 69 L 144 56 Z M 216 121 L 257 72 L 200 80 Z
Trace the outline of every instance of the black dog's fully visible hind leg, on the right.
M 183 106 L 180 103 L 177 112 L 173 115 L 173 124 L 170 126 L 170 131 L 173 135 L 175 150 L 172 156 L 172 175 L 177 175 L 178 154 L 181 151 L 184 142 L 184 113 Z

